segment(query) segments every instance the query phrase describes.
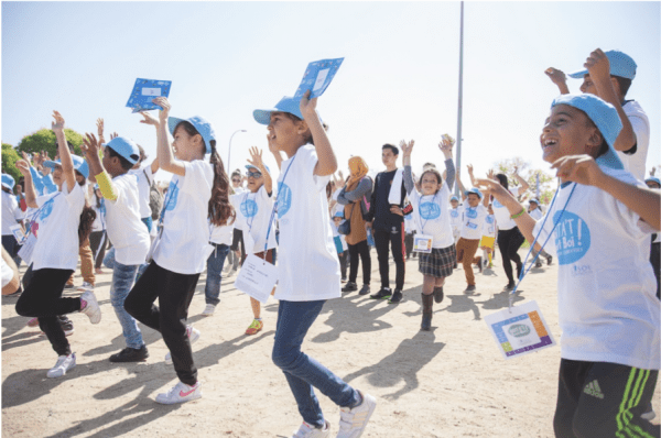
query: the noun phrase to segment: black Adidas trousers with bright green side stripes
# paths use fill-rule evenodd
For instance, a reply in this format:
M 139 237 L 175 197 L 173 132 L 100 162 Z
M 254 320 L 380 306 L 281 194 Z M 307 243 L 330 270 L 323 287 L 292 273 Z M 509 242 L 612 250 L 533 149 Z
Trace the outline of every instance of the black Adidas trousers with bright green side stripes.
M 659 371 L 562 359 L 553 429 L 557 438 L 655 437 L 641 418 Z

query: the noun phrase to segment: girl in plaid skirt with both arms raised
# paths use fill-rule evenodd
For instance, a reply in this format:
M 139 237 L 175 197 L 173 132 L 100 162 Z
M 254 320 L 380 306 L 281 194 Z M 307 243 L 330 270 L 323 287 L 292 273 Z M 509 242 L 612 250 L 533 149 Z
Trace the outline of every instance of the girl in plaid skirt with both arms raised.
M 403 152 L 404 186 L 409 200 L 413 206 L 413 220 L 419 236 L 432 238 L 432 251 L 421 252 L 418 259 L 418 270 L 422 273 L 422 324 L 421 330 L 432 329 L 432 315 L 434 299 L 436 303 L 443 300 L 443 285 L 445 278 L 452 275 L 457 260 L 457 251 L 452 236 L 449 218 L 449 205 L 447 197 L 449 188 L 454 185 L 455 168 L 452 161 L 452 143 L 443 140 L 438 149 L 445 156 L 445 169 L 447 179 L 443 177 L 436 167 L 429 167 L 420 176 L 422 193 L 418 193 L 413 177 L 411 176 L 411 153 L 414 142 L 402 141 L 400 147 Z

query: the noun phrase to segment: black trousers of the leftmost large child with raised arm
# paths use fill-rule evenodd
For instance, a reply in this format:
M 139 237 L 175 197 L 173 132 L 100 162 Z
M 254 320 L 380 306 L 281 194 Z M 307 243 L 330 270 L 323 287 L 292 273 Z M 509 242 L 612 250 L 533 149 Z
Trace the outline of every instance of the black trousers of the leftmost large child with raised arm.
M 39 327 L 57 355 L 72 353 L 57 316 L 80 310 L 80 298 L 62 297 L 64 285 L 73 273 L 72 270 L 54 269 L 32 271 L 30 282 L 17 302 L 17 314 L 39 318 Z

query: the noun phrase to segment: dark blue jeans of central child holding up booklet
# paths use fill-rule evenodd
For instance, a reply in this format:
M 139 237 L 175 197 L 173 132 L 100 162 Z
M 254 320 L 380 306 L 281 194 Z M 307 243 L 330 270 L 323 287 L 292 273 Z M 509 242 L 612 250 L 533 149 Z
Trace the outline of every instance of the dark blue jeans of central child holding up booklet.
M 338 406 L 355 406 L 360 401 L 356 390 L 301 351 L 303 339 L 324 303 L 326 300 L 280 300 L 272 353 L 273 363 L 284 372 L 303 420 L 317 427 L 323 427 L 325 421 L 313 386 Z

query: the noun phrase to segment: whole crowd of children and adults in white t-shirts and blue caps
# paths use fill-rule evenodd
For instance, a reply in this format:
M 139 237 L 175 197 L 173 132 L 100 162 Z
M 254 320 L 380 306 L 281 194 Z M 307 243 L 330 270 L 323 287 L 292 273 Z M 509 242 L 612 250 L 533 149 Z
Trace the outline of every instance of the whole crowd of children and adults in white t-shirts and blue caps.
M 253 112 L 267 127 L 278 169 L 252 147 L 245 169 L 229 175 L 212 124 L 198 116 L 170 116 L 166 98 L 153 100 L 162 108 L 158 118 L 141 113 L 141 122 L 155 128 L 151 163 L 128 136 L 112 134 L 106 142 L 101 119 L 96 135 L 85 135 L 83 156 L 73 154 L 65 120 L 55 111 L 56 160 L 23 154 L 17 163 L 21 187 L 2 175 L 2 293 L 17 294 L 17 314 L 45 332 L 57 353 L 47 376 L 61 377 L 76 365 L 66 315 L 80 311 L 98 324 L 95 274 L 104 266 L 112 270 L 110 302 L 127 347 L 109 360 L 149 358 L 138 321 L 161 332 L 165 361 L 178 382 L 156 402 L 174 404 L 202 396 L 191 348 L 202 333 L 186 324 L 199 275 L 206 269 L 203 315 L 212 317 L 223 277 L 240 275 L 248 258 L 261 259 L 278 270 L 277 285 L 269 287 L 279 302 L 272 360 L 303 417 L 294 437 L 329 435 L 316 387 L 340 407 L 337 436 L 356 438 L 377 399 L 301 351 L 324 303 L 357 292 L 397 305 L 405 295 L 405 260 L 416 258 L 423 276 L 421 330 L 431 330 L 433 305 L 443 302 L 445 280 L 459 264 L 464 293 L 473 294 L 474 269 L 492 267 L 498 247 L 508 278 L 503 289 L 513 292 L 525 275 L 519 249 L 528 241 L 534 266 L 542 266 L 540 258 L 559 264 L 563 338 L 556 436 L 659 437 L 649 419 L 661 364 L 661 182 L 653 173 L 642 182 L 649 121 L 636 101 L 625 99 L 636 64 L 621 52 L 596 50 L 585 66 L 570 75 L 584 80 L 582 95 L 568 94 L 561 70 L 546 70 L 561 91 L 540 136 L 543 158 L 560 178 L 548 206 L 527 194 L 531 187 L 517 168 L 512 175 L 490 171 L 476 177 L 468 166 L 466 188 L 447 135 L 438 143 L 443 169 L 427 162 L 414 175 L 411 140 L 382 145 L 386 171 L 373 178 L 366 161 L 351 156 L 345 178 L 310 91 Z M 164 196 L 154 182 L 159 168 L 173 174 Z M 453 195 L 455 183 L 460 197 Z M 378 291 L 371 288 L 371 248 Z M 82 294 L 63 297 L 73 288 L 78 260 Z M 28 265 L 22 287 L 15 281 L 21 262 Z M 247 302 L 251 336 L 264 324 L 260 302 Z

